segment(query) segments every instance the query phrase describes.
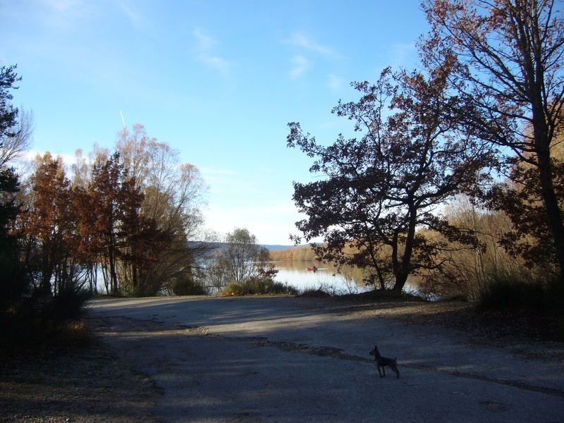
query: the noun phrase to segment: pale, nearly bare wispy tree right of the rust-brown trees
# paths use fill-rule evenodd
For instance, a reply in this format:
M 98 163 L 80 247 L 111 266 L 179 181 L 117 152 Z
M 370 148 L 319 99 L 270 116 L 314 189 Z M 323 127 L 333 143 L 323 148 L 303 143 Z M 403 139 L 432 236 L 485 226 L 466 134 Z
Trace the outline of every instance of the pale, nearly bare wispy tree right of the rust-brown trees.
M 160 231 L 171 236 L 171 243 L 140 277 L 140 283 L 157 292 L 171 288 L 178 278 L 195 273 L 198 258 L 210 250 L 201 243 L 204 221 L 202 207 L 207 185 L 192 164 L 180 163 L 180 153 L 166 142 L 149 137 L 143 125 L 136 123 L 118 133 L 116 150 L 125 169 L 135 178 L 135 188 L 145 195 L 140 214 L 153 219 Z M 124 277 L 131 278 L 128 269 Z

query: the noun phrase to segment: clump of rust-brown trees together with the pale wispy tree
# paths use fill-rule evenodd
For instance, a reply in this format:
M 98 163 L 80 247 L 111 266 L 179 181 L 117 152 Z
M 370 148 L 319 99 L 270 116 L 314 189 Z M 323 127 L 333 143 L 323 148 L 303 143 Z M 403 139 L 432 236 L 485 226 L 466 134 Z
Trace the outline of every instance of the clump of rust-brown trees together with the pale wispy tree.
M 142 125 L 135 134 L 145 134 Z M 155 295 L 197 268 L 203 248 L 192 240 L 205 190 L 197 168 L 175 163 L 178 153 L 165 143 L 125 141 L 118 145 L 127 160 L 95 147 L 89 163 L 79 152 L 73 181 L 60 157 L 35 160 L 17 227 L 40 292 L 68 285 L 95 292 L 101 275 L 107 293 Z M 147 153 L 141 167 L 149 172 L 137 179 L 131 159 Z

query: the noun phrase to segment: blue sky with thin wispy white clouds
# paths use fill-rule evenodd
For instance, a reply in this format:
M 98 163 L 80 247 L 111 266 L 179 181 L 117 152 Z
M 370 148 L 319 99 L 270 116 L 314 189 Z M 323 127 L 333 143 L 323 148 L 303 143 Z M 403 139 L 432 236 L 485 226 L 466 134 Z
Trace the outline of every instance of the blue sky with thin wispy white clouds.
M 0 66 L 22 77 L 31 156 L 70 164 L 141 123 L 200 169 L 207 228 L 292 245 L 293 182 L 319 176 L 288 123 L 325 145 L 350 133 L 331 114 L 360 98 L 350 82 L 415 68 L 428 30 L 418 0 L 0 0 Z

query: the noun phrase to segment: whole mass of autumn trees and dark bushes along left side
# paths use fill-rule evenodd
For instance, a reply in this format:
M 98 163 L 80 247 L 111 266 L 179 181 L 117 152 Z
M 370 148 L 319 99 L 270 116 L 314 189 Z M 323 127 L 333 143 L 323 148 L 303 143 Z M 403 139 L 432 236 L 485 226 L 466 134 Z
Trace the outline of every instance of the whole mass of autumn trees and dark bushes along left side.
M 18 174 L 33 115 L 11 104 L 21 78 L 0 68 L 0 338 L 2 349 L 82 336 L 91 295 L 202 293 L 195 275 L 213 249 L 202 231 L 207 187 L 179 152 L 124 128 L 114 151 L 49 152 Z

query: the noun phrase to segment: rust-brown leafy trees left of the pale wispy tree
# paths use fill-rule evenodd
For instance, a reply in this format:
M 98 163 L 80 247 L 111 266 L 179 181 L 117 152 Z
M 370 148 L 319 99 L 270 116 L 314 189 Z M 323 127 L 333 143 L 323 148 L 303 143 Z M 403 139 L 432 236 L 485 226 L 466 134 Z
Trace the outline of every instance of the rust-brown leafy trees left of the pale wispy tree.
M 118 266 L 142 271 L 166 250 L 168 236 L 140 216 L 144 196 L 117 154 L 94 166 L 87 188 L 71 186 L 63 166 L 49 153 L 35 161 L 19 217 L 26 267 L 47 295 L 92 277 L 94 263 L 107 264 L 108 290 L 118 293 Z

